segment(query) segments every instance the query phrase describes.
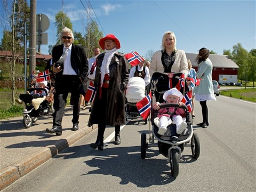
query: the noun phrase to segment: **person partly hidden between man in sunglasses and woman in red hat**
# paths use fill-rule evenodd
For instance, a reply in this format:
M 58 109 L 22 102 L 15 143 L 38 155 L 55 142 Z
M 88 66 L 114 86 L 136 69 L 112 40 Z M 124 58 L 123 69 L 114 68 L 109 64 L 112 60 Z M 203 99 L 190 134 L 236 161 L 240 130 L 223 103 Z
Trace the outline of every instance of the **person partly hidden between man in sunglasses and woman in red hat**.
M 88 70 L 88 75 L 87 75 L 87 89 L 90 85 L 90 82 L 92 81 L 92 83 L 94 83 L 94 78 L 95 78 L 95 71 L 96 71 L 96 58 L 98 57 L 98 55 L 100 54 L 100 49 L 99 47 L 95 47 L 93 49 L 93 55 L 94 57 L 91 57 L 88 60 L 89 63 L 89 70 Z M 87 102 L 87 101 L 86 101 Z M 90 103 L 92 106 L 92 103 Z M 91 112 L 92 108 L 89 109 L 89 112 Z

